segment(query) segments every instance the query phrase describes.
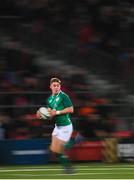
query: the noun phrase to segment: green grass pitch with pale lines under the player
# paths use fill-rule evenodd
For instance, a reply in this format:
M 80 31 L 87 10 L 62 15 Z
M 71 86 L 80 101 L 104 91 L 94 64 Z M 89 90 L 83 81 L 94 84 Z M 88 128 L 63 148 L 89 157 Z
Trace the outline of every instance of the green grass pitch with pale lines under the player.
M 58 164 L 0 166 L 0 179 L 134 179 L 134 163 L 74 163 L 75 174 Z

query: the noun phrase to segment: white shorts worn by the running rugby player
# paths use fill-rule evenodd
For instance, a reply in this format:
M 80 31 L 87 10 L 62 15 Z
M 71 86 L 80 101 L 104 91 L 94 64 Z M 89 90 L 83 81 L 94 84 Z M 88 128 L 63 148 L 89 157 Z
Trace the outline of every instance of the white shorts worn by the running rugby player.
M 73 126 L 72 124 L 67 126 L 55 126 L 52 135 L 56 136 L 58 139 L 62 141 L 69 141 L 71 135 L 73 132 Z

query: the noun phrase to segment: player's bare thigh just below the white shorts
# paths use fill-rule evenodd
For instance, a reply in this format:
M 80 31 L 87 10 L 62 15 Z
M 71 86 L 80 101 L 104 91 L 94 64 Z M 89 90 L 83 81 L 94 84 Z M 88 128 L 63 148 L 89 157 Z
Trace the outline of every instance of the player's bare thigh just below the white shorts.
M 65 141 L 58 139 L 56 136 L 52 136 L 52 142 L 50 149 L 55 153 L 62 153 L 64 151 Z

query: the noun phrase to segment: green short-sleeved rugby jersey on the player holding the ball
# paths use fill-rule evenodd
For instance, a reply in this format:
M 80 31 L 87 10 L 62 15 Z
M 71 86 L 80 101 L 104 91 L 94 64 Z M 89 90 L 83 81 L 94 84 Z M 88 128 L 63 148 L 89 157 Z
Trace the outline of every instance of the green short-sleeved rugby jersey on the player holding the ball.
M 60 93 L 56 95 L 51 95 L 47 99 L 47 105 L 51 109 L 56 109 L 56 111 L 60 111 L 67 107 L 73 106 L 69 96 L 62 91 L 60 91 Z M 55 123 L 57 126 L 66 126 L 71 124 L 69 114 L 61 114 L 55 116 Z

